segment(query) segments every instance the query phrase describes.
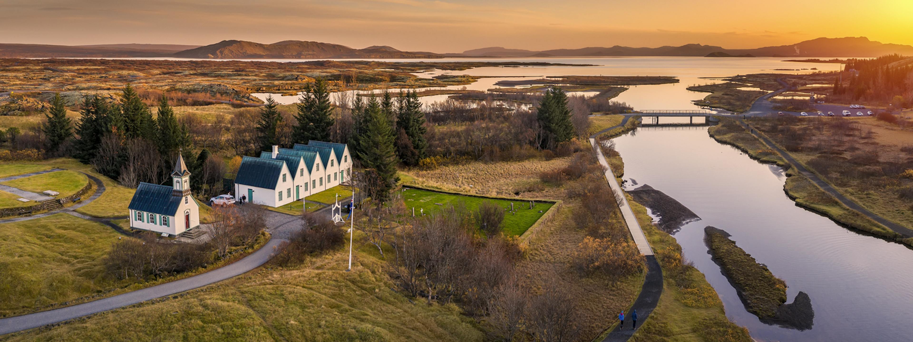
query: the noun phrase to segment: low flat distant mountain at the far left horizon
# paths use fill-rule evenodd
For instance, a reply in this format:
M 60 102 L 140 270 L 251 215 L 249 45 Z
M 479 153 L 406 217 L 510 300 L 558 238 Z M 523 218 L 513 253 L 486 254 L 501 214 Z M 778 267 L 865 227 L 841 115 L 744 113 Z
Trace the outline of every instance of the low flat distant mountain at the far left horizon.
M 41 44 L 0 44 L 0 57 L 166 57 L 193 46 L 112 44 L 99 46 L 60 46 Z

